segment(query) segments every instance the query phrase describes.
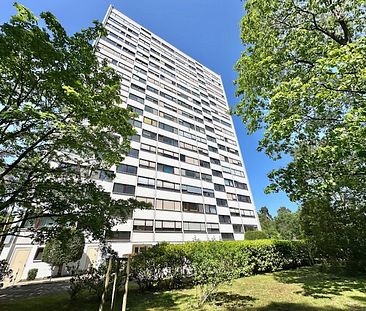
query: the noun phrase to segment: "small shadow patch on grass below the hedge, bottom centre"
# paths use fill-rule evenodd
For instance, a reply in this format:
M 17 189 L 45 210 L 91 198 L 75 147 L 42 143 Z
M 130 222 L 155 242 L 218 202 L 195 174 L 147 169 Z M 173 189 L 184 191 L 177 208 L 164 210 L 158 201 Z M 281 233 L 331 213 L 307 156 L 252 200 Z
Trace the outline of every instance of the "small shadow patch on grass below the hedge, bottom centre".
M 230 311 L 244 310 L 253 306 L 257 298 L 230 292 L 218 292 L 213 296 L 213 304 Z

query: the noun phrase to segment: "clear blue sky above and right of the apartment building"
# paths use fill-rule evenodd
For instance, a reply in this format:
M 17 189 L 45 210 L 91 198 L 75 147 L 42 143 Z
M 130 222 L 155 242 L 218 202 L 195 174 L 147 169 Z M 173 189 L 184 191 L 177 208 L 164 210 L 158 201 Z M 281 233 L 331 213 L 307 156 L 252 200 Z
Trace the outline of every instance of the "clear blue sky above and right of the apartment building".
M 23 0 L 37 15 L 51 11 L 69 33 L 102 20 L 109 4 L 173 44 L 213 71 L 221 74 L 230 105 L 237 103 L 233 66 L 243 46 L 239 22 L 244 15 L 240 0 Z M 14 14 L 13 1 L 1 0 L 0 24 Z M 256 151 L 260 133 L 247 136 L 245 126 L 234 118 L 244 162 L 257 209 L 266 205 L 272 214 L 278 207 L 296 209 L 284 193 L 266 195 L 267 172 L 280 165 Z

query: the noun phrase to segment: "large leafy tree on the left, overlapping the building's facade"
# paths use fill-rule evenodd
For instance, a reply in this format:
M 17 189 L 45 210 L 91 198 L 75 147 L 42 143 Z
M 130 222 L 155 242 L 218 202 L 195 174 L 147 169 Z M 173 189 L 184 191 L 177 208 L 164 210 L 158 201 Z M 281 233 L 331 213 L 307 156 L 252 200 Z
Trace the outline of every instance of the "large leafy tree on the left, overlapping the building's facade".
M 121 77 L 98 61 L 90 43 L 106 34 L 98 22 L 72 36 L 50 13 L 15 3 L 17 15 L 0 26 L 1 226 L 21 235 L 33 226 L 43 238 L 58 227 L 104 236 L 125 221 L 136 200 L 112 199 L 90 177 L 120 163 L 135 133 L 131 111 L 121 107 Z M 36 227 L 36 228 L 34 228 Z

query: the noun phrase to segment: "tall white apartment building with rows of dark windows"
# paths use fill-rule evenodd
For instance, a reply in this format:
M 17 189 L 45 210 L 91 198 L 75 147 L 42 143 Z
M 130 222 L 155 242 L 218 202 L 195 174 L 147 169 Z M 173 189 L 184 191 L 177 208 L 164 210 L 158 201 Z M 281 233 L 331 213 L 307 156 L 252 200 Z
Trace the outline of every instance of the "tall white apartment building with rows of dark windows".
M 137 134 L 124 162 L 111 168 L 116 177 L 101 171 L 94 178 L 115 198 L 154 207 L 116 226 L 112 247 L 123 255 L 161 241 L 242 240 L 258 229 L 221 77 L 112 7 L 104 25 L 108 35 L 95 43 L 97 55 L 122 76 Z M 1 257 L 10 262 L 28 248 L 21 278 L 31 268 L 49 273 L 42 247 L 8 242 Z M 97 252 L 87 244 L 81 266 Z

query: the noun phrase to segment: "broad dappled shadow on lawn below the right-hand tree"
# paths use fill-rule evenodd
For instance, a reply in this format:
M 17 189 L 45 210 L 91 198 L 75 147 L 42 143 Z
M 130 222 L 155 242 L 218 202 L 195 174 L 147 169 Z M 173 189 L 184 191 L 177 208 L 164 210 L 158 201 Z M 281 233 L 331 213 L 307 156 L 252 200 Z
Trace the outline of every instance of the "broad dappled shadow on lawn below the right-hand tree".
M 332 298 L 343 292 L 357 290 L 366 293 L 366 278 L 320 272 L 317 267 L 280 271 L 274 274 L 278 282 L 300 284 L 304 296 Z

